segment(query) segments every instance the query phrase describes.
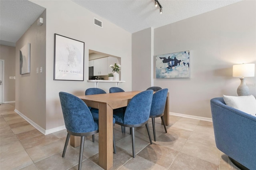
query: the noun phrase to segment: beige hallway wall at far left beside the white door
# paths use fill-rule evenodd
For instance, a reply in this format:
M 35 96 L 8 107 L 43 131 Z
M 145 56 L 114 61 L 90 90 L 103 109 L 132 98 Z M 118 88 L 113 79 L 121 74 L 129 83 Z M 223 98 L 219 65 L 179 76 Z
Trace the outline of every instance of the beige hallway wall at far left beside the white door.
M 6 102 L 15 101 L 15 47 L 0 45 L 0 59 L 4 60 L 4 100 Z

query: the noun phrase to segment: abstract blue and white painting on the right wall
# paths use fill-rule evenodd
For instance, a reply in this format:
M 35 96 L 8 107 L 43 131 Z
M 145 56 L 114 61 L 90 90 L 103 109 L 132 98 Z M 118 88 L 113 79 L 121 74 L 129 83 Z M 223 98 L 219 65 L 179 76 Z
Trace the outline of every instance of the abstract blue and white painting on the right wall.
M 156 55 L 156 78 L 189 78 L 189 51 Z

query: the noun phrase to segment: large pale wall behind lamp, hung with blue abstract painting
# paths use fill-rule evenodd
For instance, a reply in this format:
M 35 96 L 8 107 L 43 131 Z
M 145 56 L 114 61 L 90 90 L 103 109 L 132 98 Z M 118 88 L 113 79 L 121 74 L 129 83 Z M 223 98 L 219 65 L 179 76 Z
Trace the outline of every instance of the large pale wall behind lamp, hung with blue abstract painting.
M 154 79 L 170 112 L 211 118 L 210 99 L 236 96 L 232 65 L 256 63 L 256 1 L 242 1 L 154 30 L 154 55 L 190 50 L 190 78 Z M 155 61 L 154 61 L 155 62 Z M 256 96 L 256 77 L 248 77 Z

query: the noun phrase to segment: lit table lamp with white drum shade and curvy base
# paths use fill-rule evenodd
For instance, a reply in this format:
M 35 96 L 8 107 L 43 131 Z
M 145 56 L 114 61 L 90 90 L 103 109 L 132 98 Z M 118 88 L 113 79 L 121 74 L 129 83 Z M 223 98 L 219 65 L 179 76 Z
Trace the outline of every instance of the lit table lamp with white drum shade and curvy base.
M 240 78 L 241 83 L 237 88 L 238 96 L 248 96 L 249 88 L 245 83 L 244 77 L 254 77 L 255 64 L 237 64 L 233 65 L 233 77 L 242 77 Z

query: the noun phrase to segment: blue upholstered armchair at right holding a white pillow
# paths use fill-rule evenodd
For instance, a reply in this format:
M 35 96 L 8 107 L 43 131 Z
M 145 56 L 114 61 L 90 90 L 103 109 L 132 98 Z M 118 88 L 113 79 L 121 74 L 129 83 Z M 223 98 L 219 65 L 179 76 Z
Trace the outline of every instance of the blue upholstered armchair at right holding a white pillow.
M 217 148 L 238 168 L 256 170 L 256 117 L 227 106 L 223 97 L 210 105 Z

